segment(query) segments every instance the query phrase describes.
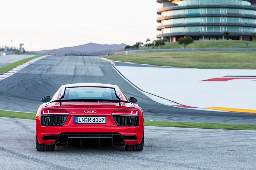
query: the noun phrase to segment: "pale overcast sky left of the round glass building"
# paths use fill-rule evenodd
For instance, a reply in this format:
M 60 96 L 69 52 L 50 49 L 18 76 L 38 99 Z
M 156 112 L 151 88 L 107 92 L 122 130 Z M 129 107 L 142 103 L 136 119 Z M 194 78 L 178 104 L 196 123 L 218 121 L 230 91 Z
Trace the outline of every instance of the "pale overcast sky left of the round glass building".
M 160 32 L 156 0 L 2 0 L 0 45 L 27 51 L 89 42 L 133 44 Z

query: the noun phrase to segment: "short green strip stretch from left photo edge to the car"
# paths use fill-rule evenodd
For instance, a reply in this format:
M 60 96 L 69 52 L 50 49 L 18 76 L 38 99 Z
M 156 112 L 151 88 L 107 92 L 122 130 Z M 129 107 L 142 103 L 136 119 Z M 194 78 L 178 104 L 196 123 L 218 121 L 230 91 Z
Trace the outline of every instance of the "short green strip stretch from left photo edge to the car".
M 20 118 L 20 119 L 36 119 L 36 114 L 0 110 L 0 117 L 13 117 L 13 118 Z

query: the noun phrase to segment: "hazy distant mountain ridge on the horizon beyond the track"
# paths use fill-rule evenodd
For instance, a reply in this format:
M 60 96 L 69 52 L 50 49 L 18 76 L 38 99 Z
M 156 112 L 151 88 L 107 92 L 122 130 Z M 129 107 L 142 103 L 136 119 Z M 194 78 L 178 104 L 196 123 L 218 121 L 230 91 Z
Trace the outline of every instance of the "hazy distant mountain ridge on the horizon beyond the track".
M 117 51 L 123 50 L 126 44 L 95 44 L 88 43 L 78 45 L 75 47 L 64 47 L 53 50 L 33 51 L 37 54 L 50 54 L 50 55 L 106 55 L 114 54 Z

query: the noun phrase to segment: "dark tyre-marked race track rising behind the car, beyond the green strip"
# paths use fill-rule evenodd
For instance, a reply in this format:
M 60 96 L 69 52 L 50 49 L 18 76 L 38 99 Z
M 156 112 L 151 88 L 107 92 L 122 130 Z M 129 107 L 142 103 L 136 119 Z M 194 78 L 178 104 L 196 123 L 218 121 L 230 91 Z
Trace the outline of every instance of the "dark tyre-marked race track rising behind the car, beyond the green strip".
M 133 88 L 100 57 L 48 56 L 0 81 L 0 109 L 35 113 L 44 96 L 62 84 L 116 84 L 137 98 L 146 120 L 255 124 L 255 114 L 212 112 L 170 107 L 152 101 Z

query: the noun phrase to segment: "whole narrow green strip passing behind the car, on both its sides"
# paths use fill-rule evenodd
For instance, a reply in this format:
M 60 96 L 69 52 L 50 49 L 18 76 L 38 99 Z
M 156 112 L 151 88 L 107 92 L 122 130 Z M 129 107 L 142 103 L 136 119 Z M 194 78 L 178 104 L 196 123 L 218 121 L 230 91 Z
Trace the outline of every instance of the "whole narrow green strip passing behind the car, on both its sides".
M 36 114 L 0 110 L 0 117 L 13 117 L 21 119 L 35 119 Z M 256 130 L 256 125 L 228 124 L 228 123 L 194 123 L 171 121 L 144 121 L 145 126 L 200 128 L 200 129 L 230 129 L 230 130 Z

